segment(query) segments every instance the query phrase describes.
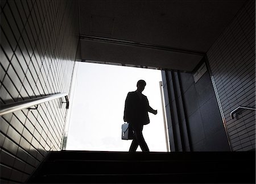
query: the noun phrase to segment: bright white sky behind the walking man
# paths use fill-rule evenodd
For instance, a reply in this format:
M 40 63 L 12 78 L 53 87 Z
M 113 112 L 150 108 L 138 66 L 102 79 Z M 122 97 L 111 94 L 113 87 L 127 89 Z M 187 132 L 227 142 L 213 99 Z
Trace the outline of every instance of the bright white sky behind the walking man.
M 121 139 L 125 99 L 142 79 L 147 83 L 142 93 L 150 106 L 158 110 L 157 115 L 149 113 L 150 124 L 144 126 L 143 136 L 150 151 L 166 152 L 159 88 L 161 71 L 88 62 L 78 64 L 66 149 L 128 151 L 131 140 Z

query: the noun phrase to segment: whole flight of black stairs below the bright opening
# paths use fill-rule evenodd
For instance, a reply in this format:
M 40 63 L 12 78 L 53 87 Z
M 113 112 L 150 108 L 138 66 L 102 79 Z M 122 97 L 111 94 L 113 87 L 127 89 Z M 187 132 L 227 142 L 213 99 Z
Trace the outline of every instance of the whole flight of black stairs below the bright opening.
M 28 183 L 255 183 L 255 152 L 50 152 Z

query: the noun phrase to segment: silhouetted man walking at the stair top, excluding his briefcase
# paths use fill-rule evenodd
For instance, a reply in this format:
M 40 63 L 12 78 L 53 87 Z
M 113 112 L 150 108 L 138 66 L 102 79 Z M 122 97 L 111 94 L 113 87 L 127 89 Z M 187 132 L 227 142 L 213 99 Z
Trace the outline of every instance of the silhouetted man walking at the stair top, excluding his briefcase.
M 125 100 L 125 112 L 123 115 L 123 121 L 129 123 L 129 128 L 134 131 L 133 142 L 129 152 L 135 152 L 138 145 L 143 152 L 149 152 L 147 143 L 142 135 L 143 125 L 150 123 L 148 112 L 157 114 L 158 111 L 150 107 L 147 97 L 142 94 L 146 86 L 146 82 L 139 80 L 137 82 L 137 90 L 129 92 Z

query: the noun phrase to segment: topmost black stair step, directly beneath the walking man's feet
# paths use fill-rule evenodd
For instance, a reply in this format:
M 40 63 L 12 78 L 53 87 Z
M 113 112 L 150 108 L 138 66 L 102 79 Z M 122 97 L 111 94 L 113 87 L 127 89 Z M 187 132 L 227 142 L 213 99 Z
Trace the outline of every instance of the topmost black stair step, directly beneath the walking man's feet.
M 53 151 L 49 160 L 246 160 L 255 157 L 255 152 L 92 152 Z

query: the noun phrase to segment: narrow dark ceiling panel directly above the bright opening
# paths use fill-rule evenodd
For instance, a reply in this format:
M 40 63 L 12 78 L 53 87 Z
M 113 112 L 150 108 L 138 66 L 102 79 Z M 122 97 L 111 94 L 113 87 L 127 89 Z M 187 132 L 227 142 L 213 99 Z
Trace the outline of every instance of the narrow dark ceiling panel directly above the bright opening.
M 81 40 L 83 60 L 116 62 L 121 65 L 192 71 L 203 56 L 159 49 L 131 47 Z

